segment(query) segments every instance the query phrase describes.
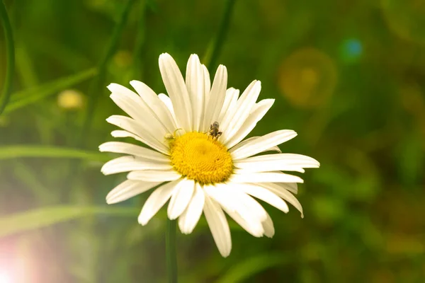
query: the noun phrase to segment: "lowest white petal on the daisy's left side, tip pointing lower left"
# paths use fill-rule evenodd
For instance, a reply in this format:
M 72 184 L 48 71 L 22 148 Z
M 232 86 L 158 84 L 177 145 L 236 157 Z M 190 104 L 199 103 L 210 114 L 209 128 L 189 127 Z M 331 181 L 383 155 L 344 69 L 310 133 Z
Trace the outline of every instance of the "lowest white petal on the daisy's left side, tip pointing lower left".
M 116 186 L 108 193 L 106 196 L 107 204 L 114 204 L 117 202 L 123 202 L 124 200 L 128 200 L 130 197 L 134 197 L 135 195 L 139 195 L 142 192 L 146 192 L 147 190 L 152 189 L 157 185 L 161 184 L 161 182 L 140 182 L 133 180 L 125 180 L 120 185 Z

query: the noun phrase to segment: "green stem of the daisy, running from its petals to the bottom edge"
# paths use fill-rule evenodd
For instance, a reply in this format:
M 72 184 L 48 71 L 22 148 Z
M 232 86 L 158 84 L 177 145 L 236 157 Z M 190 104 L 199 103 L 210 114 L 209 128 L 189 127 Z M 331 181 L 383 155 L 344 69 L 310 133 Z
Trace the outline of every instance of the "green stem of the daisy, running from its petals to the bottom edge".
M 166 219 L 165 250 L 169 283 L 177 283 L 176 224 L 176 220 Z

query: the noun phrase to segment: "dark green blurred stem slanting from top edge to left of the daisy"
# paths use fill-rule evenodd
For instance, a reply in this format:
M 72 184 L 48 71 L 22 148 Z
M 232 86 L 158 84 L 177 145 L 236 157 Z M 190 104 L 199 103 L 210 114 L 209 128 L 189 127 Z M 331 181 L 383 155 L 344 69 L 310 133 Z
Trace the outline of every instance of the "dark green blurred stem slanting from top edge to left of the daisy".
M 121 13 L 120 20 L 115 25 L 115 28 L 113 30 L 111 42 L 109 42 L 108 49 L 106 50 L 105 55 L 98 64 L 98 75 L 94 78 L 89 87 L 89 101 L 87 103 L 87 108 L 84 115 L 84 124 L 79 135 L 80 146 L 84 146 L 84 141 L 87 140 L 87 134 L 89 134 L 90 131 L 91 120 L 94 115 L 94 110 L 96 108 L 96 105 L 98 105 L 98 97 L 101 95 L 101 93 L 103 93 L 103 89 L 106 87 L 106 67 L 108 65 L 108 62 L 113 57 L 113 54 L 115 54 L 115 50 L 118 47 L 118 40 L 120 40 L 120 35 L 123 33 L 125 23 L 127 22 L 128 14 L 130 13 L 132 4 L 134 2 L 135 0 L 127 1 L 123 13 Z

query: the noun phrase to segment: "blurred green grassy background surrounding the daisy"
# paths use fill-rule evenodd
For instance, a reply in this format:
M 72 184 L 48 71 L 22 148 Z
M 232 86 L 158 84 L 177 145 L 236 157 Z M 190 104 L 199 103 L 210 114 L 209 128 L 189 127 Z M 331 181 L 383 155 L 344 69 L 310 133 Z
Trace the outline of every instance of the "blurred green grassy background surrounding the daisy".
M 242 90 L 259 79 L 276 103 L 251 135 L 295 129 L 280 149 L 322 164 L 302 175 L 305 219 L 266 206 L 272 239 L 231 222 L 223 259 L 205 218 L 178 233 L 181 282 L 425 282 L 425 1 L 239 0 L 221 49 L 232 1 L 5 4 L 16 71 L 0 116 L 1 283 L 166 282 L 164 209 L 140 226 L 149 193 L 107 206 L 125 174 L 103 176 L 113 155 L 97 151 L 120 113 L 106 86 L 164 92 L 162 52 L 182 71 L 216 52 Z M 3 28 L 0 48 L 3 87 Z

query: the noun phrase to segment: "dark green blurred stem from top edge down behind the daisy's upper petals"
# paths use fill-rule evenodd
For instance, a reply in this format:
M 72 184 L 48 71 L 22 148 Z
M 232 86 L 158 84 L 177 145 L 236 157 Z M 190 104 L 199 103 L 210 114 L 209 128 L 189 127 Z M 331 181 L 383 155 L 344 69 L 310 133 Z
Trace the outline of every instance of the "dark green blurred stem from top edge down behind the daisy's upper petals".
M 227 0 L 225 6 L 225 12 L 223 13 L 223 18 L 220 23 L 220 28 L 217 32 L 217 37 L 212 45 L 212 49 L 209 49 L 205 55 L 205 62 L 208 62 L 207 67 L 208 71 L 215 69 L 215 64 L 217 64 L 218 56 L 222 50 L 223 42 L 225 42 L 227 30 L 229 30 L 230 16 L 232 16 L 232 11 L 234 7 L 234 2 L 236 0 Z

